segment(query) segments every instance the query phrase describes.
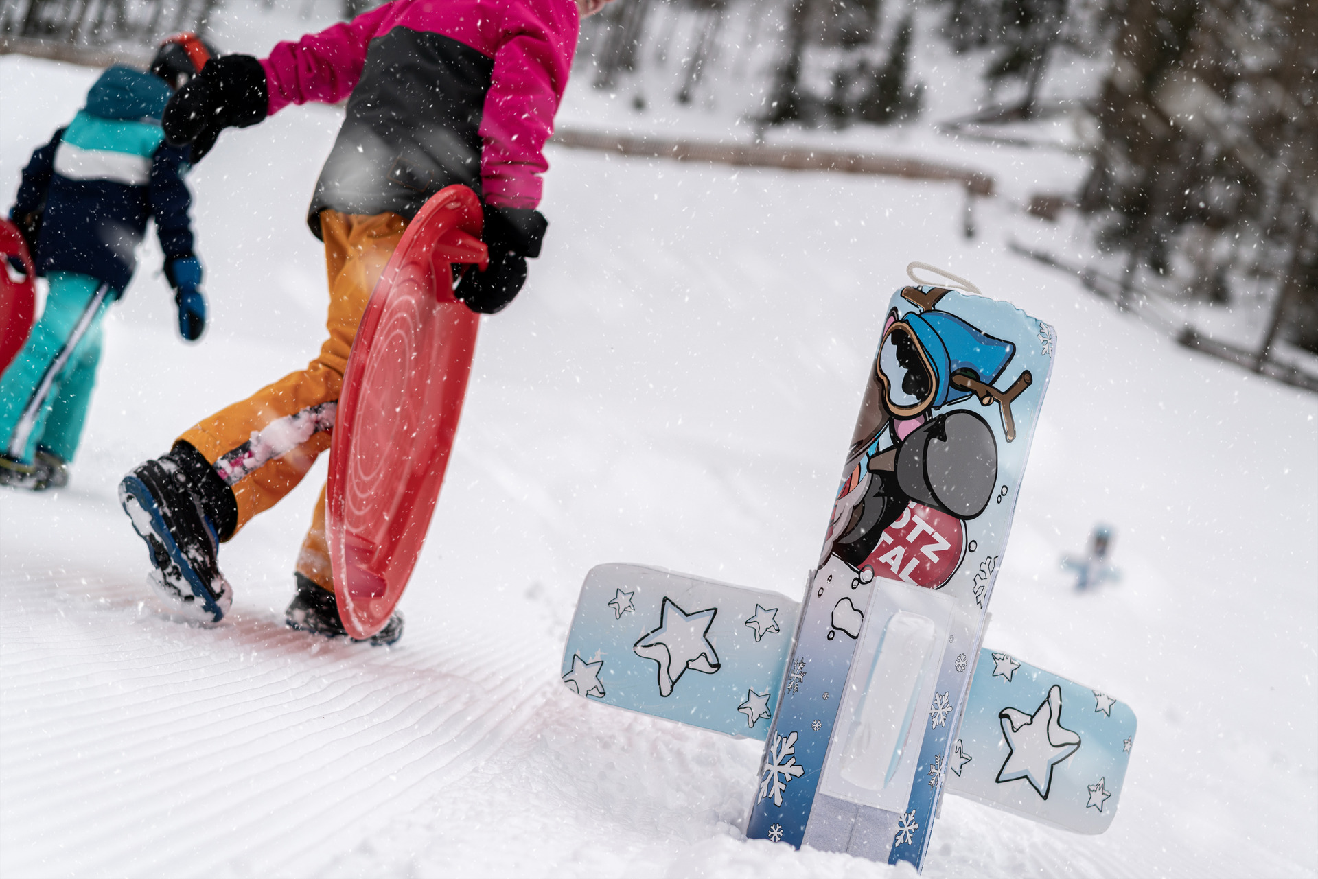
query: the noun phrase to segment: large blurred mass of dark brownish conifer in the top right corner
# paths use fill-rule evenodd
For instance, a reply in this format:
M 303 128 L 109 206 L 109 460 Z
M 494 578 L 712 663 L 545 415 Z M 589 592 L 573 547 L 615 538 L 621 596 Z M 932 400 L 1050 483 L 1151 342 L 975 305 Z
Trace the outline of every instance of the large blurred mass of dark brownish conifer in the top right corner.
M 1271 285 L 1264 351 L 1318 353 L 1318 4 L 1141 0 L 1114 7 L 1101 148 L 1081 206 L 1140 271 L 1228 300 Z

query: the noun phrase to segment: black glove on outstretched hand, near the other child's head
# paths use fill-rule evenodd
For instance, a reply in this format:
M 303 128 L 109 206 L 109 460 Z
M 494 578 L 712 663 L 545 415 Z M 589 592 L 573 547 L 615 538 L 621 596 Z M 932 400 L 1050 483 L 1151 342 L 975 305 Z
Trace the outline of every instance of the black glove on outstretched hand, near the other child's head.
M 202 72 L 174 92 L 161 125 L 174 146 L 192 145 L 195 165 L 229 127 L 246 128 L 266 117 L 270 92 L 265 69 L 252 55 L 212 58 Z

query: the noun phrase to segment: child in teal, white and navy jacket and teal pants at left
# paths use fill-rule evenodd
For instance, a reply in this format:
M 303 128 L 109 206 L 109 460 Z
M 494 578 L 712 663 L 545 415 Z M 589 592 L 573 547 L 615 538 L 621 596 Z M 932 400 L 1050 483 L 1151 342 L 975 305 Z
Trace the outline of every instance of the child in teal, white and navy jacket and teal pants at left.
M 11 219 L 50 283 L 26 344 L 0 378 L 0 485 L 41 490 L 69 480 L 100 360 L 101 320 L 136 269 L 154 219 L 179 332 L 206 326 L 202 265 L 192 252 L 186 148 L 165 142 L 159 116 L 208 50 L 195 37 L 166 41 L 152 72 L 115 66 L 87 105 L 32 154 Z

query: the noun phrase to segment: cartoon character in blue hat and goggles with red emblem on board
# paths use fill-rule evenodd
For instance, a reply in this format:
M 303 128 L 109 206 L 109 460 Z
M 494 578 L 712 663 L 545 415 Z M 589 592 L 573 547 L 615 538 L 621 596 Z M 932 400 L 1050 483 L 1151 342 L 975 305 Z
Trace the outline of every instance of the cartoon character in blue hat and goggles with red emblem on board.
M 902 298 L 916 310 L 905 316 L 896 308 L 888 312 L 821 567 L 837 556 L 862 575 L 865 568 L 870 575 L 884 568 L 900 580 L 938 588 L 960 561 L 962 522 L 978 517 L 992 499 L 994 431 L 957 403 L 970 397 L 983 406 L 996 402 L 1010 443 L 1016 439 L 1011 403 L 1033 378 L 1023 370 L 999 390 L 995 382 L 1016 345 L 937 311 L 948 293 L 905 287 Z

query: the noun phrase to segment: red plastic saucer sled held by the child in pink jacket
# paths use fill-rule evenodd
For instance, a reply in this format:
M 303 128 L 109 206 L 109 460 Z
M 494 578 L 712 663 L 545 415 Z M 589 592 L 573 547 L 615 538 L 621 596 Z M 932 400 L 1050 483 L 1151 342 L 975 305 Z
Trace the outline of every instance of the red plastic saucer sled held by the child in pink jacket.
M 403 232 L 352 343 L 330 448 L 333 590 L 353 638 L 380 631 L 407 586 L 448 465 L 477 315 L 452 264 L 489 262 L 465 186 L 436 192 Z

